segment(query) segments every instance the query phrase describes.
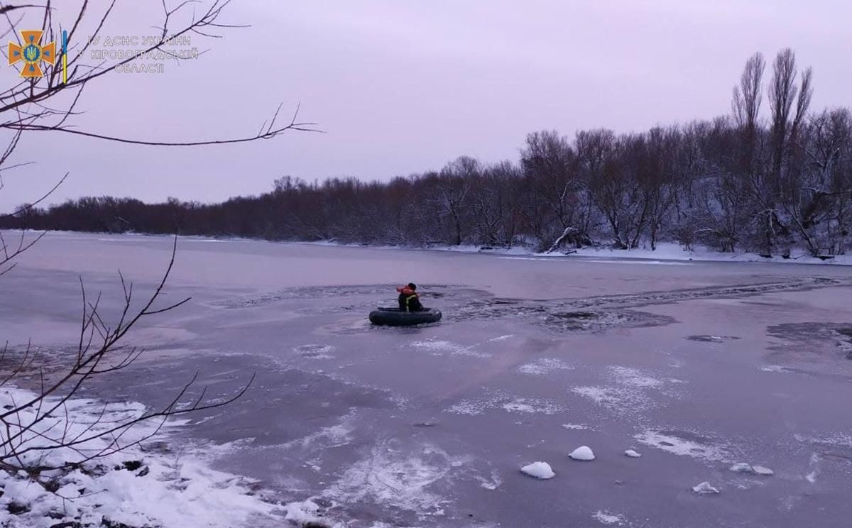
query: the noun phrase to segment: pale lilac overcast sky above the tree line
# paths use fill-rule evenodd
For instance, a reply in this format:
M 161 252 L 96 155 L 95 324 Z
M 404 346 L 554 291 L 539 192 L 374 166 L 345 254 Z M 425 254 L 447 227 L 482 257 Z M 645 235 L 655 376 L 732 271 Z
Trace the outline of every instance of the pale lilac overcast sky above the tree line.
M 57 16 L 77 3 L 55 3 Z M 107 2 L 93 4 L 94 15 Z M 515 160 L 537 129 L 631 131 L 727 113 L 746 59 L 761 51 L 771 63 L 787 46 L 814 67 L 815 108 L 848 106 L 852 85 L 845 0 L 235 0 L 223 20 L 251 27 L 193 36 L 190 47 L 210 51 L 162 73 L 111 72 L 83 94 L 75 123 L 216 139 L 253 134 L 279 102 L 286 112 L 301 102 L 325 134 L 187 149 L 32 133 L 14 162 L 37 164 L 3 173 L 0 210 L 66 171 L 52 202 L 210 202 L 268 191 L 281 175 L 385 180 L 463 154 Z M 119 0 L 105 34 L 147 35 L 160 21 L 158 2 Z

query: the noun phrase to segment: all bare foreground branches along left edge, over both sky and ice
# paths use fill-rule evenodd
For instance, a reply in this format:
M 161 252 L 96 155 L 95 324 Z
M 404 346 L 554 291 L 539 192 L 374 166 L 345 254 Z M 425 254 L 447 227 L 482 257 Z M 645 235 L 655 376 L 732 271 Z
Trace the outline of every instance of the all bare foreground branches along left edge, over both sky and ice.
M 138 59 L 141 55 L 153 52 L 154 50 L 171 55 L 176 60 L 184 59 L 185 57 L 176 55 L 173 51 L 166 48 L 168 43 L 174 38 L 185 35 L 219 37 L 220 35 L 216 34 L 219 30 L 235 27 L 221 21 L 222 10 L 227 7 L 230 0 L 212 1 L 206 8 L 200 11 L 195 10 L 198 8 L 197 3 L 182 2 L 178 3 L 176 7 L 169 7 L 164 1 L 163 19 L 161 20 L 161 26 L 158 28 L 158 38 L 148 43 L 147 49 L 140 55 L 113 60 L 112 62 L 104 60 L 97 64 L 91 64 L 87 62 L 87 58 L 90 56 L 90 54 L 87 54 L 87 51 L 92 45 L 92 42 L 100 37 L 107 20 L 112 14 L 115 3 L 115 0 L 112 0 L 111 3 L 101 9 L 100 13 L 95 14 L 93 19 L 92 14 L 95 6 L 90 5 L 89 0 L 83 0 L 77 14 L 73 18 L 72 26 L 66 30 L 69 41 L 75 42 L 74 47 L 67 50 L 66 61 L 68 71 L 66 78 L 60 75 L 61 68 L 59 61 L 54 61 L 52 65 L 46 67 L 43 77 L 21 77 L 20 81 L 5 89 L 0 89 L 0 129 L 5 130 L 9 135 L 8 144 L 2 156 L 0 156 L 0 175 L 10 169 L 18 169 L 26 165 L 12 163 L 13 154 L 24 134 L 54 133 L 78 135 L 92 139 L 93 141 L 114 141 L 134 145 L 176 147 L 216 146 L 227 143 L 269 140 L 289 130 L 315 130 L 314 123 L 305 123 L 298 120 L 298 106 L 296 106 L 296 111 L 292 114 L 289 122 L 279 123 L 279 111 L 281 108 L 279 106 L 256 133 L 230 138 L 209 138 L 199 141 L 131 138 L 107 135 L 79 128 L 75 123 L 75 118 L 79 113 L 78 107 L 84 99 L 83 93 L 91 83 L 97 83 L 107 72 L 112 71 L 116 67 L 127 65 L 133 60 Z M 26 14 L 30 20 L 39 20 L 41 22 L 40 31 L 43 32 L 48 40 L 55 40 L 60 34 L 60 27 L 54 19 L 55 6 L 48 0 L 43 6 L 20 4 L 4 5 L 0 8 L 0 15 L 8 22 L 8 27 L 4 32 L 5 35 L 18 38 L 19 25 L 24 19 L 23 16 L 13 19 L 12 15 L 17 12 Z M 181 17 L 189 17 L 189 21 L 185 25 L 176 26 L 175 20 Z M 74 37 L 78 37 L 79 32 L 83 31 L 83 27 L 87 23 L 95 27 L 94 33 L 89 39 L 75 39 Z M 42 198 L 32 202 L 32 204 L 21 206 L 11 213 L 11 215 L 5 217 L 6 220 L 14 218 L 16 221 L 19 221 L 21 232 L 20 237 L 16 238 L 16 242 L 9 240 L 6 235 L 3 235 L 3 232 L 0 232 L 0 244 L 2 244 L 0 274 L 12 269 L 15 261 L 20 258 L 20 255 L 31 248 L 33 244 L 36 244 L 43 236 L 44 232 L 41 232 L 34 237 L 30 236 L 28 238 L 26 234 L 28 222 L 32 220 L 31 216 L 35 215 L 37 204 L 48 198 L 55 191 L 56 187 L 59 187 L 65 181 L 66 176 L 61 177 L 58 183 Z M 0 180 L 0 188 L 2 188 L 2 180 Z M 101 205 L 103 204 L 95 204 L 95 206 Z M 109 205 L 115 206 L 117 203 L 113 200 Z M 176 207 L 177 204 L 173 204 L 173 206 Z M 181 209 L 183 209 L 183 204 L 181 204 Z M 0 218 L 0 220 L 3 219 Z M 126 220 L 120 218 L 120 221 Z M 80 456 L 78 460 L 70 461 L 69 463 L 79 464 L 87 462 L 92 458 L 106 456 L 109 453 L 126 449 L 128 444 L 123 440 L 124 434 L 138 423 L 159 420 L 162 424 L 162 421 L 170 416 L 224 405 L 245 393 L 251 380 L 246 382 L 238 393 L 232 399 L 228 399 L 227 402 L 210 401 L 205 398 L 204 389 L 196 391 L 193 388 L 195 382 L 195 378 L 193 377 L 182 390 L 176 393 L 174 399 L 161 409 L 150 410 L 134 419 L 115 423 L 112 427 L 95 430 L 93 425 L 92 428 L 86 429 L 85 433 L 73 437 L 69 437 L 66 431 L 52 431 L 49 433 L 37 431 L 39 424 L 49 420 L 56 413 L 62 412 L 66 402 L 72 399 L 85 384 L 91 382 L 96 377 L 109 376 L 119 370 L 124 370 L 140 357 L 142 350 L 135 347 L 126 347 L 124 341 L 141 319 L 147 319 L 159 313 L 168 312 L 188 301 L 186 299 L 165 307 L 160 307 L 157 304 L 175 261 L 176 242 L 177 238 L 175 238 L 171 260 L 164 272 L 162 280 L 156 286 L 153 293 L 147 297 L 147 300 L 142 302 L 141 308 L 134 308 L 133 284 L 126 282 L 124 277 L 121 277 L 121 284 L 124 288 L 124 309 L 118 314 L 118 319 L 112 323 L 102 313 L 101 296 L 97 296 L 94 301 L 90 300 L 89 296 L 86 295 L 81 281 L 83 317 L 76 352 L 64 358 L 65 370 L 55 382 L 47 382 L 44 376 L 45 366 L 43 363 L 40 363 L 42 356 L 36 353 L 34 347 L 27 346 L 22 352 L 15 351 L 9 348 L 8 345 L 3 347 L 2 356 L 0 356 L 0 368 L 3 368 L 6 372 L 3 383 L 14 383 L 18 380 L 21 372 L 34 369 L 39 373 L 41 387 L 32 399 L 24 402 L 16 402 L 12 408 L 0 412 L 0 468 L 7 470 L 24 469 L 37 473 L 43 468 L 27 467 L 26 463 L 23 462 L 26 458 L 24 455 L 27 453 L 57 448 L 75 450 L 94 438 L 107 437 L 110 439 L 107 442 L 107 447 L 100 452 L 79 451 Z M 25 411 L 28 417 L 22 419 Z M 33 441 L 34 434 L 37 436 L 37 442 Z

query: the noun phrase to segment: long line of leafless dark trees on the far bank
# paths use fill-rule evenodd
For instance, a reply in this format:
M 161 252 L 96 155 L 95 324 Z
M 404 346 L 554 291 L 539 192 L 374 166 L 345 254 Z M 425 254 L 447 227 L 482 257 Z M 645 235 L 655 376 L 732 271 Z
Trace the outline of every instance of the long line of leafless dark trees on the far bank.
M 769 72 L 767 72 L 769 70 Z M 285 176 L 260 196 L 199 204 L 79 198 L 0 227 L 337 240 L 362 244 L 592 244 L 843 254 L 852 228 L 852 115 L 810 108 L 812 73 L 753 55 L 728 115 L 641 133 L 527 135 L 518 161 L 463 156 L 391 181 Z M 764 105 L 765 103 L 765 105 Z

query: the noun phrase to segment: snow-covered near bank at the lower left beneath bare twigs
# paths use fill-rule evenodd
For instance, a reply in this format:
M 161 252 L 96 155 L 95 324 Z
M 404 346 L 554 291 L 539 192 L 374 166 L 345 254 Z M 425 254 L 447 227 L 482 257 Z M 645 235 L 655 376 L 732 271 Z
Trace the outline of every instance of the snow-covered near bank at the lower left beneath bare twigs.
M 21 405 L 33 396 L 29 391 L 3 387 L 0 405 L 9 409 L 9 405 Z M 106 456 L 83 462 L 76 468 L 31 474 L 0 470 L 3 488 L 0 525 L 234 528 L 277 526 L 296 517 L 296 505 L 276 505 L 268 497 L 264 500 L 255 480 L 210 467 L 211 457 L 228 446 L 215 449 L 181 446 L 178 451 L 163 441 L 186 422 L 167 422 L 152 439 L 148 437 L 157 432 L 160 422 L 142 422 L 119 436 L 118 446 L 124 449 L 114 452 L 116 435 L 90 437 L 141 416 L 145 412 L 143 405 L 72 399 L 66 409 L 58 416 L 35 423 L 35 410 L 17 413 L 9 432 L 14 435 L 22 426 L 25 433 L 15 441 L 16 451 L 26 448 L 37 451 L 29 451 L 9 462 L 26 468 L 57 467 L 67 462 L 83 462 L 101 453 Z M 33 427 L 27 429 L 30 424 Z M 9 438 L 7 434 L 3 433 L 3 441 Z M 57 446 L 61 439 L 76 438 L 87 440 L 73 447 Z M 43 448 L 54 449 L 42 451 Z M 4 454 L 9 455 L 8 445 Z M 312 514 L 302 513 L 298 520 L 308 515 Z

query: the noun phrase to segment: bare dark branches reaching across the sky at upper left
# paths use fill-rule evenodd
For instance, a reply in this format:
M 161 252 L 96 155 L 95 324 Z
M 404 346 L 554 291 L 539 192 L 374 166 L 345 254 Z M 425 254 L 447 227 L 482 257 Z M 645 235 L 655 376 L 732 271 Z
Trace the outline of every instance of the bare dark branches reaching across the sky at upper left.
M 155 51 L 168 55 L 174 60 L 189 60 L 192 57 L 176 54 L 168 48 L 169 44 L 175 42 L 177 38 L 190 35 L 212 38 L 221 37 L 216 32 L 237 27 L 226 24 L 221 20 L 223 10 L 231 1 L 214 0 L 200 12 L 195 10 L 196 3 L 182 2 L 177 3 L 175 7 L 169 7 L 164 1 L 163 18 L 160 26 L 158 26 L 157 38 L 153 38 L 152 42 L 147 43 L 145 49 L 135 55 L 117 60 L 107 59 L 101 60 L 98 63 L 92 63 L 88 60 L 91 58 L 91 55 L 87 54 L 87 52 L 90 51 L 93 43 L 102 37 L 101 33 L 112 14 L 116 0 L 112 0 L 102 9 L 101 13 L 95 14 L 94 17 L 91 16 L 93 6 L 90 5 L 89 0 L 83 0 L 83 3 L 77 10 L 77 14 L 73 17 L 74 22 L 72 27 L 66 30 L 68 42 L 74 42 L 72 48 L 67 50 L 67 77 L 62 77 L 60 61 L 55 60 L 53 66 L 46 68 L 43 77 L 21 77 L 19 82 L 14 83 L 6 89 L 0 89 L 0 129 L 6 130 L 9 133 L 7 146 L 3 154 L 0 155 L 0 189 L 3 188 L 2 175 L 4 172 L 11 169 L 19 169 L 28 164 L 12 164 L 10 162 L 10 158 L 12 158 L 16 151 L 24 133 L 51 132 L 79 135 L 100 141 L 116 141 L 147 146 L 215 146 L 269 140 L 290 130 L 320 131 L 315 128 L 316 123 L 302 122 L 298 119 L 298 105 L 296 105 L 296 110 L 293 112 L 289 122 L 279 122 L 279 112 L 281 110 L 281 106 L 279 105 L 271 117 L 262 123 L 256 133 L 231 138 L 210 138 L 199 141 L 143 139 L 107 135 L 92 130 L 81 129 L 78 124 L 74 123 L 74 118 L 80 113 L 78 106 L 81 100 L 83 100 L 84 90 L 90 83 L 101 80 L 101 77 L 108 72 L 128 65 L 134 60 L 138 60 Z M 40 20 L 40 31 L 43 32 L 47 40 L 55 40 L 61 33 L 58 24 L 54 20 L 56 9 L 50 1 L 44 6 L 30 4 L 17 6 L 6 5 L 3 9 L 3 18 L 8 22 L 8 27 L 4 34 L 18 39 L 19 43 L 19 26 L 24 17 L 21 15 L 20 18 L 13 20 L 9 14 L 12 11 L 21 11 L 34 20 Z M 183 26 L 176 26 L 175 20 L 184 16 L 191 17 L 189 22 Z M 83 31 L 83 27 L 87 23 L 95 27 L 94 32 L 88 38 L 75 39 L 75 37 L 79 37 L 79 32 Z M 3 53 L 5 54 L 5 51 Z M 15 63 L 14 67 L 18 68 L 20 72 L 20 64 Z M 59 184 L 64 179 L 65 177 L 60 179 Z M 46 193 L 43 198 L 33 202 L 30 207 L 48 198 L 55 191 L 56 187 L 59 187 L 59 184 Z M 16 211 L 16 213 L 20 213 L 20 211 Z M 16 248 L 10 248 L 3 243 L 3 258 L 5 260 L 0 263 L 0 268 L 3 265 L 12 264 L 14 258 L 29 247 L 32 247 L 32 244 L 27 243 Z

